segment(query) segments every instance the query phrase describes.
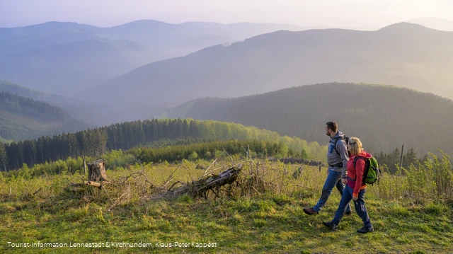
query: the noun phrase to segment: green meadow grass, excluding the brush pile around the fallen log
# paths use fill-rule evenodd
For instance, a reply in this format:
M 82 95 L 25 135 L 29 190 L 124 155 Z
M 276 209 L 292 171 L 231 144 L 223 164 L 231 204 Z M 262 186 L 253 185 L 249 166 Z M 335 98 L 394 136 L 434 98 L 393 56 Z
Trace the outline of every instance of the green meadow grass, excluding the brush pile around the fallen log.
M 208 162 L 205 162 L 208 163 Z M 405 197 L 383 198 L 377 186 L 367 190 L 365 200 L 375 231 L 356 233 L 362 227 L 357 214 L 346 216 L 338 231 L 329 231 L 322 221 L 333 218 L 340 200 L 334 191 L 320 214 L 308 216 L 321 195 L 325 170 L 304 166 L 301 178 L 291 178 L 298 166 L 269 163 L 267 180 L 276 185 L 259 195 L 194 200 L 188 195 L 175 200 L 132 198 L 113 209 L 105 192 L 74 195 L 62 187 L 81 175 L 57 175 L 28 180 L 27 187 L 11 190 L 16 182 L 2 180 L 0 194 L 1 253 L 453 253 L 453 207 L 425 202 L 415 204 Z M 286 167 L 286 168 L 285 168 Z M 164 183 L 176 166 L 147 166 L 155 183 Z M 190 180 L 204 171 L 195 163 L 178 169 L 174 178 Z M 139 168 L 132 167 L 132 171 Z M 244 171 L 248 169 L 245 168 Z M 289 173 L 285 173 L 285 171 Z M 127 175 L 130 171 L 109 171 Z M 151 177 L 151 175 L 153 175 Z M 48 186 L 36 195 L 38 186 Z M 386 186 L 385 180 L 382 186 Z M 137 190 L 138 191 L 138 190 Z M 20 195 L 23 193 L 23 195 Z M 28 195 L 26 195 L 28 193 Z M 115 196 L 115 197 L 114 197 Z M 12 243 L 110 243 L 110 248 L 12 248 Z M 153 248 L 128 248 L 111 243 L 152 243 Z M 189 243 L 188 247 L 168 246 Z M 217 243 L 217 247 L 195 248 L 192 243 Z

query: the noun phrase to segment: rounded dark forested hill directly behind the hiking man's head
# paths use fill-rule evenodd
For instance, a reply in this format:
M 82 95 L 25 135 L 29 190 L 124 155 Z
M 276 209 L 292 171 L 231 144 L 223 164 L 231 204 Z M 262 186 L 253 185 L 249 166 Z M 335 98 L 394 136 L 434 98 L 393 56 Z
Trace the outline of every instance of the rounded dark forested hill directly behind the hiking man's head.
M 402 144 L 418 154 L 453 150 L 452 100 L 395 86 L 323 83 L 241 98 L 202 98 L 163 115 L 239 122 L 316 142 L 326 140 L 325 123 L 336 121 L 342 132 L 374 151 L 390 152 Z

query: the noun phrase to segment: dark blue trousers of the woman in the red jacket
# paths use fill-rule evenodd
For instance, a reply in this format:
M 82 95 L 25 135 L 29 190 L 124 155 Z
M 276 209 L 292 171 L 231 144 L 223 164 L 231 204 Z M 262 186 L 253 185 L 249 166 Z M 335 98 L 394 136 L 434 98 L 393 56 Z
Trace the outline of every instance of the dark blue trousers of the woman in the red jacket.
M 363 197 L 365 196 L 365 192 L 367 189 L 360 190 L 359 192 L 359 199 L 357 201 L 354 201 L 354 207 L 355 207 L 355 212 L 359 214 L 359 217 L 362 219 L 364 226 L 367 229 L 371 229 L 372 224 L 371 221 L 369 220 L 367 209 L 365 208 L 365 200 Z M 341 196 L 340 204 L 338 205 L 337 212 L 335 213 L 335 217 L 333 218 L 333 224 L 338 225 L 340 223 L 341 217 L 343 217 L 343 214 L 345 214 L 346 211 L 346 204 L 349 205 L 349 202 L 352 200 L 352 192 L 354 192 L 354 189 L 352 187 L 349 187 L 346 185 L 345 191 L 343 192 L 343 195 Z

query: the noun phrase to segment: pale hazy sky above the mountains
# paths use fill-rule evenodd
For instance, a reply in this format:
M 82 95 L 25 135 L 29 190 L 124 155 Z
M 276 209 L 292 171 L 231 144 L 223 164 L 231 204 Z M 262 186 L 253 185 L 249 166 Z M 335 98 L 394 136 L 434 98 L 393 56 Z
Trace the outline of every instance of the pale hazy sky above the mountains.
M 0 27 L 72 21 L 113 26 L 139 19 L 381 28 L 411 18 L 453 20 L 453 0 L 0 0 Z

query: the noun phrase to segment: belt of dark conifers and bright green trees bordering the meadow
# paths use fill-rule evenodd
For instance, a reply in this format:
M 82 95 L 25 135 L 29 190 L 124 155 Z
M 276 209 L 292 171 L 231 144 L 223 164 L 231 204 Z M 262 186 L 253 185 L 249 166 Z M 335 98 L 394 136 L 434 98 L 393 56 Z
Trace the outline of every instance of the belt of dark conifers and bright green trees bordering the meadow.
M 11 144 L 0 142 L 0 170 L 20 168 L 23 163 L 31 166 L 35 163 L 66 159 L 69 156 L 77 158 L 82 152 L 86 156 L 101 156 L 108 150 L 131 149 L 151 144 L 166 146 L 174 141 L 191 144 L 231 139 L 273 142 L 279 146 L 279 151 L 284 151 L 285 148 L 292 149 L 299 158 L 318 161 L 326 159 L 326 146 L 320 146 L 316 142 L 307 143 L 297 138 L 280 137 L 277 132 L 256 127 L 214 121 L 144 120 L 60 134 L 52 138 L 40 137 Z M 274 149 L 268 147 L 268 155 L 274 154 Z

